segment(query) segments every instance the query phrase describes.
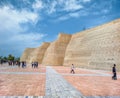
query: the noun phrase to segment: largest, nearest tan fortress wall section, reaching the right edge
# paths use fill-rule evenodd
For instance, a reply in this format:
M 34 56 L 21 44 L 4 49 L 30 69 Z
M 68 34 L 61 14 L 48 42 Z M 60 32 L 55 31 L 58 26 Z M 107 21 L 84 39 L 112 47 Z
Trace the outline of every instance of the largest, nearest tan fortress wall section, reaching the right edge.
M 63 65 L 111 70 L 116 63 L 120 70 L 119 58 L 120 19 L 73 34 Z

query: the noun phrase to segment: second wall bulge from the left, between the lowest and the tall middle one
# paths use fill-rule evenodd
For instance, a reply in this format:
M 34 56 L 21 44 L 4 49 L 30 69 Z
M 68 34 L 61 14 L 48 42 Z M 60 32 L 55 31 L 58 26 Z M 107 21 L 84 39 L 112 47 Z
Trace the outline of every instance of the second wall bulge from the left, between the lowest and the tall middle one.
M 49 47 L 50 43 L 44 42 L 40 47 L 35 48 L 34 51 L 32 52 L 32 57 L 30 58 L 29 62 L 34 62 L 37 61 L 39 64 L 42 63 L 44 54 Z

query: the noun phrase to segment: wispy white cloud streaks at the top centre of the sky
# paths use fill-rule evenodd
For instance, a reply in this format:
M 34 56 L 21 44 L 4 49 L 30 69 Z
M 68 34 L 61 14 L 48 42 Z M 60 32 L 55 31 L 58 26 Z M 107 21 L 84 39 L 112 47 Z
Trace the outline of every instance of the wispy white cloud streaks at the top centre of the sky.
M 48 14 L 53 14 L 56 12 L 69 12 L 69 11 L 76 11 L 80 10 L 83 7 L 81 1 L 78 0 L 54 0 L 49 1 L 48 3 L 44 4 L 45 11 Z

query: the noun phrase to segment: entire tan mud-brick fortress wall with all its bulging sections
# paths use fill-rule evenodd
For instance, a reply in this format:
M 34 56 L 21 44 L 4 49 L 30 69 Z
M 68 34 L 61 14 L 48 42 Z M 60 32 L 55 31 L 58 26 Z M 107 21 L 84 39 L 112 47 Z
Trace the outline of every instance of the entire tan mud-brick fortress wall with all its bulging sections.
M 59 34 L 56 41 L 26 49 L 22 60 L 44 65 L 74 64 L 79 67 L 120 71 L 120 19 L 73 35 Z

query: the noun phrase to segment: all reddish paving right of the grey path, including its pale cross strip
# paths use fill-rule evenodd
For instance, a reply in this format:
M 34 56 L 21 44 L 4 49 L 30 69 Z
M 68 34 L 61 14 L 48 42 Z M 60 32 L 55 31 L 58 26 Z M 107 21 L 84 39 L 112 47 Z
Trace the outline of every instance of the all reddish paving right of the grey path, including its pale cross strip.
M 54 69 L 88 98 L 120 98 L 119 73 L 118 80 L 112 80 L 112 73 L 102 70 L 76 68 L 76 74 L 71 74 L 67 67 Z

